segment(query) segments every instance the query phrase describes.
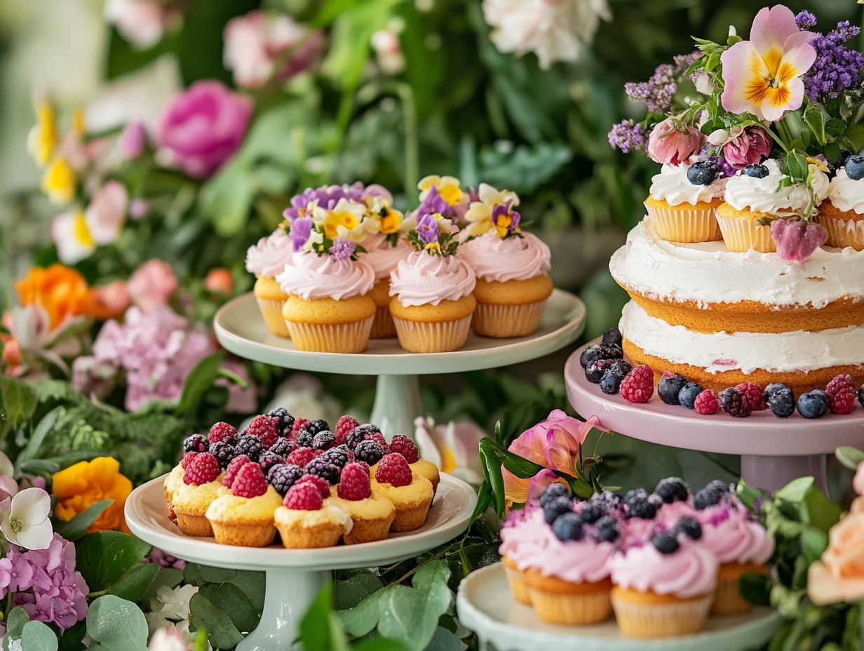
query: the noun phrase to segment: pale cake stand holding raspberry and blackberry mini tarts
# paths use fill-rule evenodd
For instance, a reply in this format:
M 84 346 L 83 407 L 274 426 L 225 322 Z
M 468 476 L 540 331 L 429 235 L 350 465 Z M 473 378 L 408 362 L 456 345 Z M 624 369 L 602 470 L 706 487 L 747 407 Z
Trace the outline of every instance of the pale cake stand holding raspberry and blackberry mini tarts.
M 442 474 L 426 524 L 416 531 L 391 533 L 388 539 L 372 543 L 323 549 L 238 547 L 182 533 L 168 520 L 163 479 L 164 476 L 139 486 L 126 500 L 126 522 L 132 533 L 187 561 L 266 572 L 261 621 L 238 644 L 238 651 L 294 648 L 302 617 L 327 583 L 331 571 L 390 565 L 428 552 L 464 533 L 477 503 L 471 486 Z

